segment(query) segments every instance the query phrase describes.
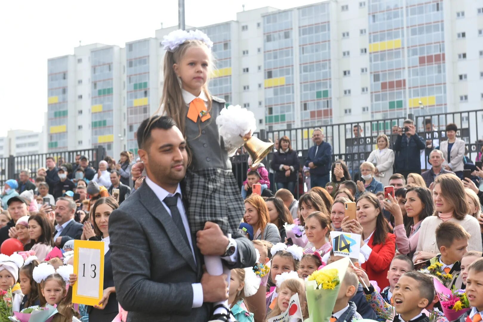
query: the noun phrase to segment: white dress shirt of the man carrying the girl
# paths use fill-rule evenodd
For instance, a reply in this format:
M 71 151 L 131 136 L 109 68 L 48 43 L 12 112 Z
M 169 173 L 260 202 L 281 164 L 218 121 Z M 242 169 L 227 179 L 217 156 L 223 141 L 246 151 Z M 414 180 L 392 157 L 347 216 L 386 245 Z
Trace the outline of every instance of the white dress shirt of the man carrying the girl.
M 201 93 L 203 93 L 203 91 L 201 91 Z M 177 206 L 177 208 L 180 212 L 181 220 L 183 221 L 183 225 L 185 226 L 186 236 L 188 237 L 188 241 L 189 241 L 189 247 L 191 248 L 191 252 L 193 253 L 193 259 L 195 260 L 195 263 L 196 263 L 195 251 L 194 251 L 194 248 L 193 248 L 193 241 L 191 239 L 191 231 L 189 229 L 189 224 L 188 224 L 188 217 L 186 216 L 185 206 L 184 206 L 183 201 L 182 201 L 183 195 L 181 194 L 181 186 L 178 183 L 178 187 L 176 188 L 175 193 L 171 194 L 168 191 L 166 191 L 165 189 L 158 186 L 156 183 L 154 183 L 151 179 L 149 179 L 149 177 L 146 177 L 146 179 L 144 181 L 151 188 L 151 190 L 153 190 L 153 192 L 155 193 L 155 195 L 157 196 L 159 201 L 161 201 L 161 204 L 164 206 L 166 211 L 168 211 L 170 216 L 171 216 L 171 210 L 168 207 L 168 205 L 166 205 L 164 203 L 163 200 L 166 197 L 172 197 L 175 194 L 179 194 L 178 204 L 176 206 Z M 234 240 L 232 238 L 230 238 L 230 240 L 234 242 Z M 237 247 L 237 243 L 236 242 L 234 242 L 234 243 L 235 243 L 235 252 L 233 253 L 233 255 L 227 256 L 227 257 L 222 257 L 222 259 L 224 259 L 228 262 L 231 262 L 231 263 L 236 263 L 238 261 L 238 247 Z M 192 283 L 191 286 L 193 287 L 193 306 L 192 306 L 192 308 L 200 308 L 203 305 L 203 288 L 201 287 L 201 283 Z

